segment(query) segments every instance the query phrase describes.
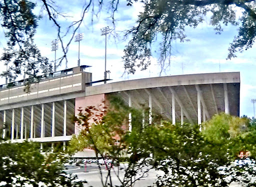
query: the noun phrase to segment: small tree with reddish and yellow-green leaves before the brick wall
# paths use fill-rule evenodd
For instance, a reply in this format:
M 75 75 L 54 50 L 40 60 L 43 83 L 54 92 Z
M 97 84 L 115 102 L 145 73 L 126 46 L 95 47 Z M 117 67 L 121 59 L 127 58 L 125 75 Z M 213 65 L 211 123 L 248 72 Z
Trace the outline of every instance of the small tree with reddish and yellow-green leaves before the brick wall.
M 80 109 L 78 116 L 73 118 L 83 130 L 77 137 L 72 137 L 69 151 L 90 148 L 95 150 L 96 155 L 116 158 L 121 150 L 126 148 L 124 140 L 128 127 L 128 114 L 132 110 L 119 97 L 109 99 L 111 103 L 109 108 L 97 109 L 90 106 L 84 110 Z

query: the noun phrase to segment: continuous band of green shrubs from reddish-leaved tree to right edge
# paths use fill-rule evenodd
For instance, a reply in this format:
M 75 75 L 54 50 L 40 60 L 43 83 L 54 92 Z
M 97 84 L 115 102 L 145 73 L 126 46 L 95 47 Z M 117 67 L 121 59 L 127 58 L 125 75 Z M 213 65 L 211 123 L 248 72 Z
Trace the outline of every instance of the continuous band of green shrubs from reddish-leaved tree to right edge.
M 226 187 L 232 181 L 239 181 L 239 177 L 233 173 L 227 176 L 219 168 L 231 166 L 240 151 L 249 151 L 252 157 L 256 153 L 256 128 L 246 117 L 215 115 L 203 124 L 200 132 L 199 126 L 191 124 L 172 125 L 159 120 L 153 120 L 150 125 L 143 123 L 147 121 L 142 117 L 143 110 L 127 107 L 118 97 L 109 100 L 109 107 L 103 111 L 93 112 L 94 107 L 86 108 L 85 113 L 81 111 L 76 122 L 86 125 L 71 140 L 71 148 L 78 147 L 80 151 L 91 148 L 103 157 L 119 161 L 123 160 L 119 159 L 121 153 L 125 153 L 128 166 L 124 178 L 119 179 L 121 187 L 129 186 L 134 176 L 138 173 L 143 176 L 153 167 L 164 173 L 158 177 L 155 187 Z M 131 132 L 127 131 L 129 113 L 132 114 Z M 93 124 L 88 125 L 89 121 Z M 232 171 L 237 171 L 234 168 Z

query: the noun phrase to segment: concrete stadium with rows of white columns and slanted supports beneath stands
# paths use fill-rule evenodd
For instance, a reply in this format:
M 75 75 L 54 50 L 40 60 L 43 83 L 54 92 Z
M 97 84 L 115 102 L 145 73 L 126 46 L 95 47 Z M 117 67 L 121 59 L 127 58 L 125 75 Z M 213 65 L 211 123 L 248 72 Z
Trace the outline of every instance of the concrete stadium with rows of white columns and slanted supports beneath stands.
M 120 95 L 127 105 L 147 106 L 150 116 L 161 114 L 173 124 L 201 124 L 214 114 L 239 116 L 239 72 L 205 73 L 127 80 L 93 86 L 88 66 L 51 73 L 23 91 L 0 86 L 0 127 L 11 142 L 25 139 L 65 143 L 79 128 L 70 120 L 79 107 L 98 106 L 109 94 Z

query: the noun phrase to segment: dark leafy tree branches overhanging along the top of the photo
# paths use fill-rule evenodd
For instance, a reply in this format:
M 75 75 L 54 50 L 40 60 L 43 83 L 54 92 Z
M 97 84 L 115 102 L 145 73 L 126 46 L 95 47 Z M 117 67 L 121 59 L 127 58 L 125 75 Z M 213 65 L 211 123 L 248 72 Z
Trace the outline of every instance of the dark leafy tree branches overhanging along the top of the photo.
M 132 6 L 138 0 L 126 0 L 126 2 L 127 6 Z M 228 59 L 235 57 L 237 52 L 250 48 L 254 43 L 256 14 L 253 0 L 140 0 L 139 2 L 143 4 L 144 9 L 139 13 L 135 25 L 125 31 L 125 36 L 131 38 L 124 48 L 123 56 L 124 68 L 128 73 L 134 73 L 137 68 L 146 69 L 152 55 L 159 57 L 158 62 L 164 70 L 170 62 L 172 42 L 189 40 L 185 30 L 188 27 L 195 28 L 203 21 L 214 26 L 216 33 L 221 33 L 223 26 L 228 24 L 238 26 L 238 33 L 228 48 Z M 67 62 L 66 53 L 69 44 L 84 17 L 89 15 L 93 20 L 94 16 L 107 9 L 107 16 L 112 18 L 114 24 L 117 21 L 115 13 L 118 11 L 119 3 L 119 0 L 84 1 L 81 6 L 81 16 L 67 29 L 66 26 L 63 29 L 59 18 L 68 16 L 68 12 L 64 14 L 58 11 L 53 0 L 0 1 L 2 17 L 0 22 L 8 39 L 8 47 L 1 59 L 6 60 L 10 67 L 3 75 L 8 75 L 9 80 L 12 81 L 15 74 L 21 74 L 24 66 L 27 66 L 28 76 L 51 70 L 47 59 L 41 57 L 33 43 L 33 36 L 40 18 L 34 13 L 36 5 L 41 6 L 41 11 L 44 12 L 40 15 L 47 16 L 57 30 L 56 35 L 63 52 L 57 64 L 60 65 L 63 59 Z M 64 43 L 63 37 L 66 36 L 70 37 Z M 20 54 L 15 56 L 16 53 Z

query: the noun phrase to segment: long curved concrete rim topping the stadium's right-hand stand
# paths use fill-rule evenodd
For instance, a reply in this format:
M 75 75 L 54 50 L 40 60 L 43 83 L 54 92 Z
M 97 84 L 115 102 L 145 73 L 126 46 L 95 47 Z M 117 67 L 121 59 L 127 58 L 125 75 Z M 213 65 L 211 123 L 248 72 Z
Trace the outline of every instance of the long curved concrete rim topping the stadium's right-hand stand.
M 203 73 L 191 75 L 176 75 L 153 77 L 145 79 L 136 79 L 129 81 L 120 81 L 98 86 L 86 87 L 85 95 L 96 95 L 102 93 L 112 93 L 127 90 L 157 88 L 178 85 L 196 85 L 196 84 L 218 84 L 218 83 L 239 83 L 240 73 Z

